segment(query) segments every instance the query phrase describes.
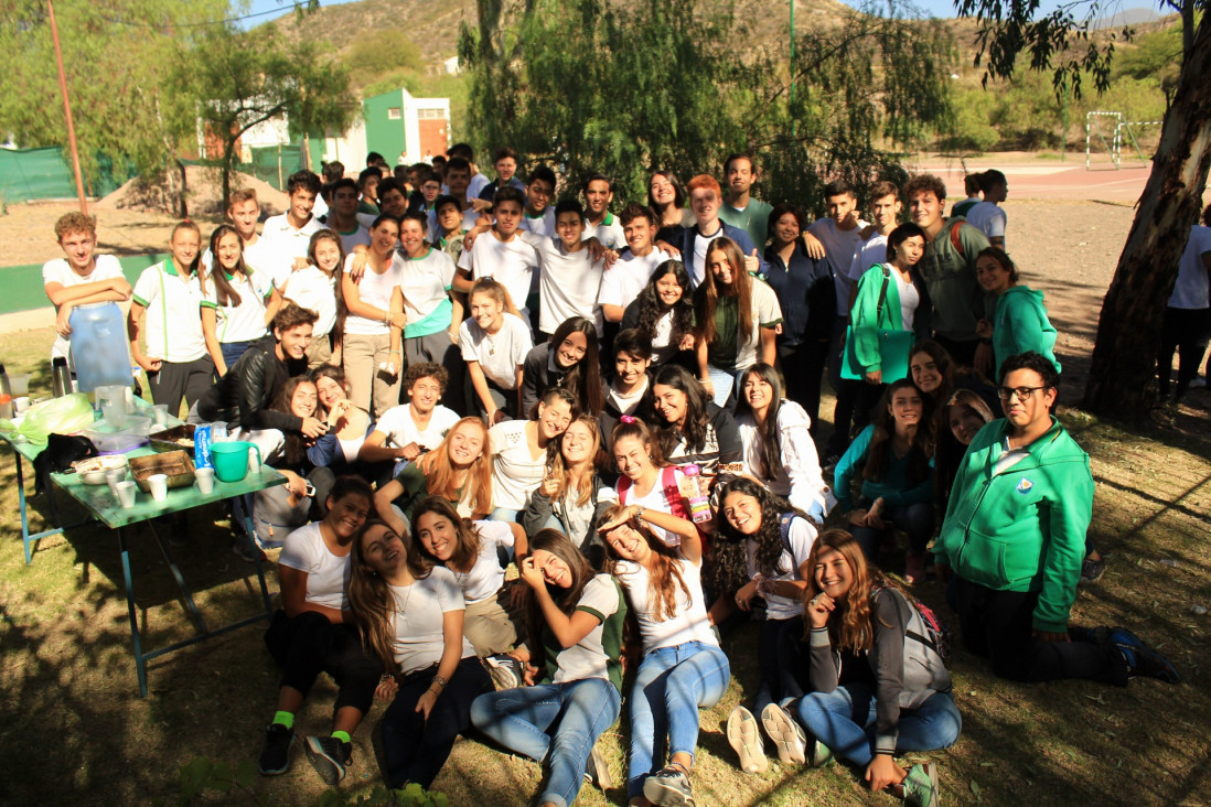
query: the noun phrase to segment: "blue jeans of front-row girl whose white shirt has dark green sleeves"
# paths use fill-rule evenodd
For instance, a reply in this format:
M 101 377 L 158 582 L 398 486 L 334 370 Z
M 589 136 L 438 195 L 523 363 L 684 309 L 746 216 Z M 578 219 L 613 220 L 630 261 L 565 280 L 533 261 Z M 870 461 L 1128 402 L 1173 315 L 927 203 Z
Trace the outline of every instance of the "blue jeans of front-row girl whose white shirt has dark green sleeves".
M 621 705 L 613 684 L 590 678 L 481 694 L 471 704 L 471 722 L 509 750 L 550 768 L 536 803 L 568 807 L 584 784 L 593 743 L 618 720 Z

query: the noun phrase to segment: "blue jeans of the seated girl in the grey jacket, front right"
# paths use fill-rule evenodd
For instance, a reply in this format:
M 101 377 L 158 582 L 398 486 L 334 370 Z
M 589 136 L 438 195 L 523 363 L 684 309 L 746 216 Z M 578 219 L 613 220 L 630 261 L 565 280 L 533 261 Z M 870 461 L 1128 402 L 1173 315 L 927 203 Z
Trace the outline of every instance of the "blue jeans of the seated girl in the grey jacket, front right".
M 794 708 L 808 733 L 838 757 L 869 765 L 874 757 L 874 690 L 846 684 L 832 692 L 813 692 Z M 948 692 L 935 692 L 917 709 L 901 709 L 896 753 L 949 748 L 959 738 L 963 719 Z

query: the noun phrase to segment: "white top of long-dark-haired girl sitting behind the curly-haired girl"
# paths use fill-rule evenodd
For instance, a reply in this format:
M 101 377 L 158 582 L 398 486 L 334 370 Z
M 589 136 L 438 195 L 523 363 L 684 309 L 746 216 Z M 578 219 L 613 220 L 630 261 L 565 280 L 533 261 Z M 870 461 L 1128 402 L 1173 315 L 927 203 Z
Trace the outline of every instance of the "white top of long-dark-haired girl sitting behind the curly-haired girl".
M 744 445 L 744 472 L 753 479 L 762 479 L 771 494 L 787 498 L 809 515 L 823 521 L 828 509 L 836 503 L 832 491 L 820 472 L 820 455 L 808 428 L 811 419 L 799 404 L 790 398 L 777 409 L 779 450 L 782 462 L 776 468 L 767 468 L 761 434 L 752 413 L 736 415 L 736 428 Z

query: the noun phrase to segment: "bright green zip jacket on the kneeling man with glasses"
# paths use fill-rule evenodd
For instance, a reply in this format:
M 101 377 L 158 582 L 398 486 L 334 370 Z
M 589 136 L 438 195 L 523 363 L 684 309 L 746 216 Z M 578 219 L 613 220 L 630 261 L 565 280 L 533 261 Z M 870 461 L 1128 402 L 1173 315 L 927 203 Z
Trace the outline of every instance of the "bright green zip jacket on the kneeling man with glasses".
M 1034 628 L 1063 633 L 1094 511 L 1089 455 L 1052 420 L 1026 457 L 994 474 L 1008 427 L 994 420 L 971 440 L 934 558 L 994 590 L 1039 592 Z

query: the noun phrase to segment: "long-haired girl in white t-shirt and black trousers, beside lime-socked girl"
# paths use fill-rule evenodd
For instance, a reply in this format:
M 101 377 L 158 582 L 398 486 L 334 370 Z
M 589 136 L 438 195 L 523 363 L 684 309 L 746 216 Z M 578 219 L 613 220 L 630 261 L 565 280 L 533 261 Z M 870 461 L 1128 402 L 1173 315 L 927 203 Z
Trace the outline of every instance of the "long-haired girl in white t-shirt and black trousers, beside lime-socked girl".
M 388 670 L 374 693 L 391 699 L 383 715 L 388 785 L 415 782 L 429 789 L 471 725 L 471 702 L 492 688 L 463 636 L 458 580 L 373 520 L 355 544 L 349 603 L 366 644 Z

